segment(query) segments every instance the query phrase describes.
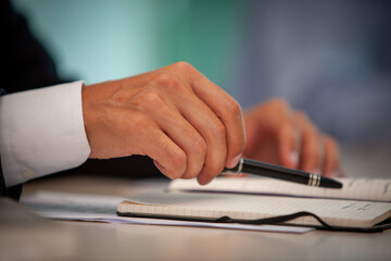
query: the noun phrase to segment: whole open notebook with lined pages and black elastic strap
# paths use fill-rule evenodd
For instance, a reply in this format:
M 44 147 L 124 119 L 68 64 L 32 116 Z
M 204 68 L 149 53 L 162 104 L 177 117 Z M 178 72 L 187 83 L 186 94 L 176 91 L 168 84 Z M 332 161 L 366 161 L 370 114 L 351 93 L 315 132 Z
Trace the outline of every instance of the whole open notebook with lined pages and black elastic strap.
M 122 201 L 117 214 L 335 231 L 378 232 L 390 227 L 391 179 L 340 181 L 342 189 L 258 177 L 219 177 L 206 186 L 178 179 L 167 191 Z

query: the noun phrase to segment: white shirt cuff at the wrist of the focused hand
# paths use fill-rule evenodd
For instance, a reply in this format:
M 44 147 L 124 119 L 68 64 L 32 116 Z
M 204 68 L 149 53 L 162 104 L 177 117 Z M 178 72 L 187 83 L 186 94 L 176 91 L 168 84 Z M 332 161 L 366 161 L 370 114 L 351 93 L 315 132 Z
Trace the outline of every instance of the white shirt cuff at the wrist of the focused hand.
M 83 82 L 0 97 L 0 154 L 8 187 L 88 159 Z

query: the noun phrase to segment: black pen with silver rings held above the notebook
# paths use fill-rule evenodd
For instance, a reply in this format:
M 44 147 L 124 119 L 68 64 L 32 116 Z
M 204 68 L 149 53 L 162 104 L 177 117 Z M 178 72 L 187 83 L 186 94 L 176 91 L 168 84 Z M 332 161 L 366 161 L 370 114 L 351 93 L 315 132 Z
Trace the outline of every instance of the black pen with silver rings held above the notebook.
M 316 175 L 310 172 L 292 170 L 283 166 L 264 163 L 249 159 L 240 159 L 239 163 L 232 169 L 224 169 L 223 174 L 248 173 L 258 176 L 282 179 L 305 184 L 313 187 L 342 188 L 342 184 L 325 176 Z

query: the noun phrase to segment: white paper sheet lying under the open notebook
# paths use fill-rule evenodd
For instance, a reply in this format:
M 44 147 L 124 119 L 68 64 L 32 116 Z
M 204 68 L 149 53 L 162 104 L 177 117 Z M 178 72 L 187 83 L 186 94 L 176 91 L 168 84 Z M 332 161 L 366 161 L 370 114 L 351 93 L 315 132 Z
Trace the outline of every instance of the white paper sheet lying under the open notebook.
M 77 220 L 109 223 L 199 226 L 242 231 L 280 232 L 304 234 L 313 227 L 279 225 L 244 225 L 212 222 L 190 222 L 165 219 L 125 217 L 116 215 L 116 206 L 122 197 L 39 191 L 21 199 L 21 203 L 41 216 L 54 220 Z

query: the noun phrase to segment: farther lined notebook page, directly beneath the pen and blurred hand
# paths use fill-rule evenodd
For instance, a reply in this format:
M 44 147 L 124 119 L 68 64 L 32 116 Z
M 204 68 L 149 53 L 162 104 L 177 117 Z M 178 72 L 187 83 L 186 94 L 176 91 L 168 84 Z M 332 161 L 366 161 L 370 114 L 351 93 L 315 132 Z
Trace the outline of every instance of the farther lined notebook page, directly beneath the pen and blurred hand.
M 169 190 L 202 190 L 285 195 L 298 197 L 337 198 L 391 202 L 391 179 L 339 178 L 342 189 L 310 187 L 272 178 L 218 177 L 200 186 L 195 179 L 175 179 Z

